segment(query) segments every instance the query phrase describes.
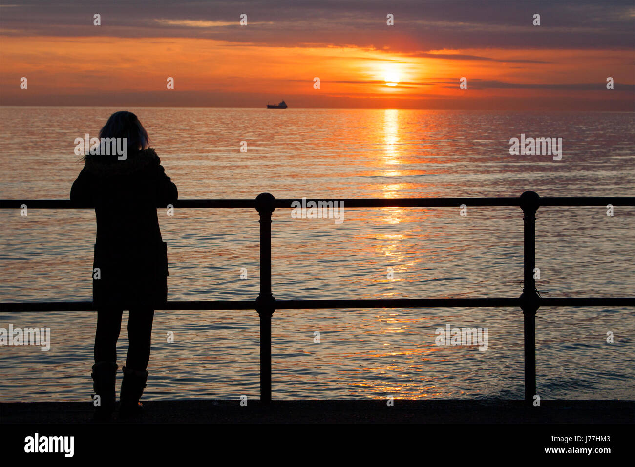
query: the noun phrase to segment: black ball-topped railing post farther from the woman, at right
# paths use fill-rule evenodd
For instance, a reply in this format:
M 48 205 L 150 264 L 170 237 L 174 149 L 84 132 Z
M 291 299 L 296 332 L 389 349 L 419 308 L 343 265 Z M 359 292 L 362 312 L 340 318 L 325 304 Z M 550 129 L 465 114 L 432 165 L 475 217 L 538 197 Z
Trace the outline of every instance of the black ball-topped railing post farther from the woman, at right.
M 536 311 L 540 306 L 540 295 L 536 292 L 536 280 L 533 278 L 536 267 L 536 211 L 540 207 L 540 196 L 534 191 L 525 191 L 520 197 L 520 207 L 525 214 L 525 272 L 523 293 L 520 295 L 525 316 L 525 403 L 531 406 L 536 394 Z

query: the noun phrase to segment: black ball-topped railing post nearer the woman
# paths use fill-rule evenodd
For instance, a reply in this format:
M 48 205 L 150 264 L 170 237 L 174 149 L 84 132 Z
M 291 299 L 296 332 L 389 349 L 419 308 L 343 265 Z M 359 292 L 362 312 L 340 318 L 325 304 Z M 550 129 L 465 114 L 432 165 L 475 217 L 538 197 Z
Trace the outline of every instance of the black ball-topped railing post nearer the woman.
M 269 193 L 256 197 L 256 210 L 260 215 L 260 294 L 256 311 L 260 316 L 260 402 L 271 403 L 271 316 L 276 311 L 276 299 L 271 293 L 271 214 L 274 198 Z

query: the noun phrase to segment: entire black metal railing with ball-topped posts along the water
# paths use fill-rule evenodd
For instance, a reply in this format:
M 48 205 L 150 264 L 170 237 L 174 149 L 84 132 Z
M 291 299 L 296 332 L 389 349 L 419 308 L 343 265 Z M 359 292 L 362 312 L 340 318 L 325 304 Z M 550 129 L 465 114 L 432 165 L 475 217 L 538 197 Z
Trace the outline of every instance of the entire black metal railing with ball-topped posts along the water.
M 271 402 L 271 317 L 276 309 L 344 308 L 489 308 L 519 307 L 524 315 L 525 401 L 536 394 L 536 312 L 540 306 L 635 306 L 635 298 L 542 298 L 534 279 L 536 212 L 540 206 L 635 206 L 635 197 L 540 198 L 526 191 L 519 198 L 370 198 L 344 199 L 347 208 L 519 206 L 524 213 L 524 287 L 518 298 L 276 300 L 271 290 L 271 217 L 276 208 L 291 208 L 297 200 L 276 200 L 262 193 L 255 200 L 180 200 L 175 208 L 255 208 L 260 215 L 260 294 L 255 301 L 170 301 L 162 309 L 255 309 L 260 317 L 260 400 Z M 307 204 L 314 201 L 307 200 Z M 93 208 L 70 200 L 0 200 L 0 208 Z M 164 206 L 157 206 L 164 207 Z M 0 311 L 95 310 L 93 302 L 0 303 Z

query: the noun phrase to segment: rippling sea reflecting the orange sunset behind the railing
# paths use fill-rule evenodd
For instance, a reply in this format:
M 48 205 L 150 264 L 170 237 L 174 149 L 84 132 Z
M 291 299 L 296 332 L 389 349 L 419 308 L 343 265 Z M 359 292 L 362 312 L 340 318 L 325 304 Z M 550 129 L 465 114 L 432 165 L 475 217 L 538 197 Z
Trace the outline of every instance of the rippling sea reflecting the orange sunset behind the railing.
M 291 107 L 292 104 L 290 103 Z M 0 198 L 69 199 L 75 139 L 135 112 L 182 200 L 634 196 L 635 115 L 399 109 L 0 107 Z M 510 154 L 513 138 L 561 138 L 561 158 Z M 512 151 L 513 152 L 513 151 Z M 135 200 L 130 200 L 135 203 Z M 633 297 L 635 208 L 540 207 L 542 297 Z M 253 300 L 253 209 L 159 209 L 170 301 Z M 607 215 L 612 214 L 612 215 Z M 342 208 L 343 220 L 272 216 L 276 299 L 518 297 L 518 207 Z M 91 300 L 95 213 L 0 208 L 0 301 Z M 50 348 L 0 347 L 3 402 L 91 402 L 94 311 L 9 313 L 50 329 Z M 124 365 L 127 312 L 117 347 Z M 486 344 L 439 345 L 477 328 Z M 628 307 L 540 308 L 537 393 L 635 398 Z M 156 311 L 144 399 L 259 398 L 255 310 Z M 120 376 L 121 377 L 121 374 Z M 520 399 L 517 308 L 292 309 L 272 317 L 274 399 Z

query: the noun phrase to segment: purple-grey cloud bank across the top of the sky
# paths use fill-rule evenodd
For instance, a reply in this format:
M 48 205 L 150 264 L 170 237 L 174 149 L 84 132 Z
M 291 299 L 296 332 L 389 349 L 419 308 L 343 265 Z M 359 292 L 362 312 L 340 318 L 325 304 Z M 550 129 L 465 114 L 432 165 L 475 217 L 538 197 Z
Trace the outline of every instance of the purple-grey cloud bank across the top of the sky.
M 92 4 L 79 0 L 62 4 L 14 0 L 14 4 L 3 9 L 3 34 L 200 37 L 274 47 L 352 45 L 391 53 L 444 48 L 632 50 L 635 46 L 632 3 L 612 0 L 100 0 L 101 27 L 93 27 Z M 386 25 L 387 10 L 394 14 L 394 26 Z M 537 11 L 541 25 L 534 27 L 531 21 Z M 239 24 L 241 13 L 248 15 L 248 25 L 230 27 Z

